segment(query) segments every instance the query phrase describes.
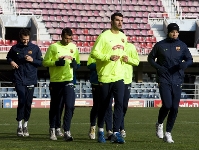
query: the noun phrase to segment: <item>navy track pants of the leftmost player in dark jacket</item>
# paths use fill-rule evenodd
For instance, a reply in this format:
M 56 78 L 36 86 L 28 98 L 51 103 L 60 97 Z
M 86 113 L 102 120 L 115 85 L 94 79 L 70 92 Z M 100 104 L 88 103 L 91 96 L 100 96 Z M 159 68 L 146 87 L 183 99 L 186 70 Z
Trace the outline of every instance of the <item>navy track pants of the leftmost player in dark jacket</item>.
M 15 89 L 18 96 L 18 107 L 17 107 L 17 121 L 28 121 L 31 114 L 31 105 L 34 93 L 34 86 L 27 87 L 25 85 L 16 84 Z

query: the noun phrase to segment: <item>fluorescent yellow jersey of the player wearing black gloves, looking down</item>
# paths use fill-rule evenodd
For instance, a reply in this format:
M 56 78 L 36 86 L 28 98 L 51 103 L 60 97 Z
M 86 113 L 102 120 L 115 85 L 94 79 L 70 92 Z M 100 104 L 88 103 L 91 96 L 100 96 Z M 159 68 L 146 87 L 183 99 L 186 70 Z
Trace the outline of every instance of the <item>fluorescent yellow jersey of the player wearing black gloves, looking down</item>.
M 73 80 L 73 68 L 70 67 L 71 60 L 65 59 L 64 66 L 56 66 L 55 61 L 61 56 L 75 58 L 77 47 L 73 43 L 64 46 L 60 41 L 51 44 L 44 56 L 43 66 L 49 67 L 50 82 L 64 82 Z

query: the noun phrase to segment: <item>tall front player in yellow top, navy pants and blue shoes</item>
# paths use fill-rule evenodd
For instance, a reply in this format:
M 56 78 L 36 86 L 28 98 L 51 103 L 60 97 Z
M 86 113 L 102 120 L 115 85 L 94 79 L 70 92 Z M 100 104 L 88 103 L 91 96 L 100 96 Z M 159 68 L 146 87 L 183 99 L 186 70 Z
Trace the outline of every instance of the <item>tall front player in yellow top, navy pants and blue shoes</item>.
M 96 69 L 100 85 L 100 104 L 98 111 L 98 142 L 105 143 L 104 119 L 110 97 L 114 96 L 113 135 L 111 142 L 124 143 L 119 129 L 123 118 L 124 64 L 127 37 L 119 30 L 122 28 L 123 15 L 111 16 L 111 29 L 100 34 L 92 48 L 91 57 L 96 60 Z

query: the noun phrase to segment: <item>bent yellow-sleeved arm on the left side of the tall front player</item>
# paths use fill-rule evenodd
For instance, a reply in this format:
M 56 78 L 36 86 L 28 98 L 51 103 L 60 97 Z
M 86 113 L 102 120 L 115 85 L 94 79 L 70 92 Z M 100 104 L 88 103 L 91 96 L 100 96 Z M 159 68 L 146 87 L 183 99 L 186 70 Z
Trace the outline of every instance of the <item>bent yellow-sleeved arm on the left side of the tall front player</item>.
M 96 60 L 101 60 L 101 61 L 111 61 L 111 55 L 110 54 L 103 54 L 102 50 L 105 48 L 106 46 L 106 42 L 105 42 L 105 37 L 103 36 L 103 34 L 100 34 L 97 38 L 97 40 L 95 41 L 94 46 L 92 47 L 91 50 L 91 57 L 93 59 Z

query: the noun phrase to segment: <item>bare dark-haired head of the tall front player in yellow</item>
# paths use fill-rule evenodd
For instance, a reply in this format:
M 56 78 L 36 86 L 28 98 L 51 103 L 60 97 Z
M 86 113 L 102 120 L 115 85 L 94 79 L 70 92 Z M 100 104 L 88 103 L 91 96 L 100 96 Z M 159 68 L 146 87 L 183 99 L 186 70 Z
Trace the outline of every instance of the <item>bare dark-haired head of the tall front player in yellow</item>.
M 123 24 L 123 15 L 119 12 L 116 12 L 111 15 L 111 28 L 113 30 L 120 30 Z

